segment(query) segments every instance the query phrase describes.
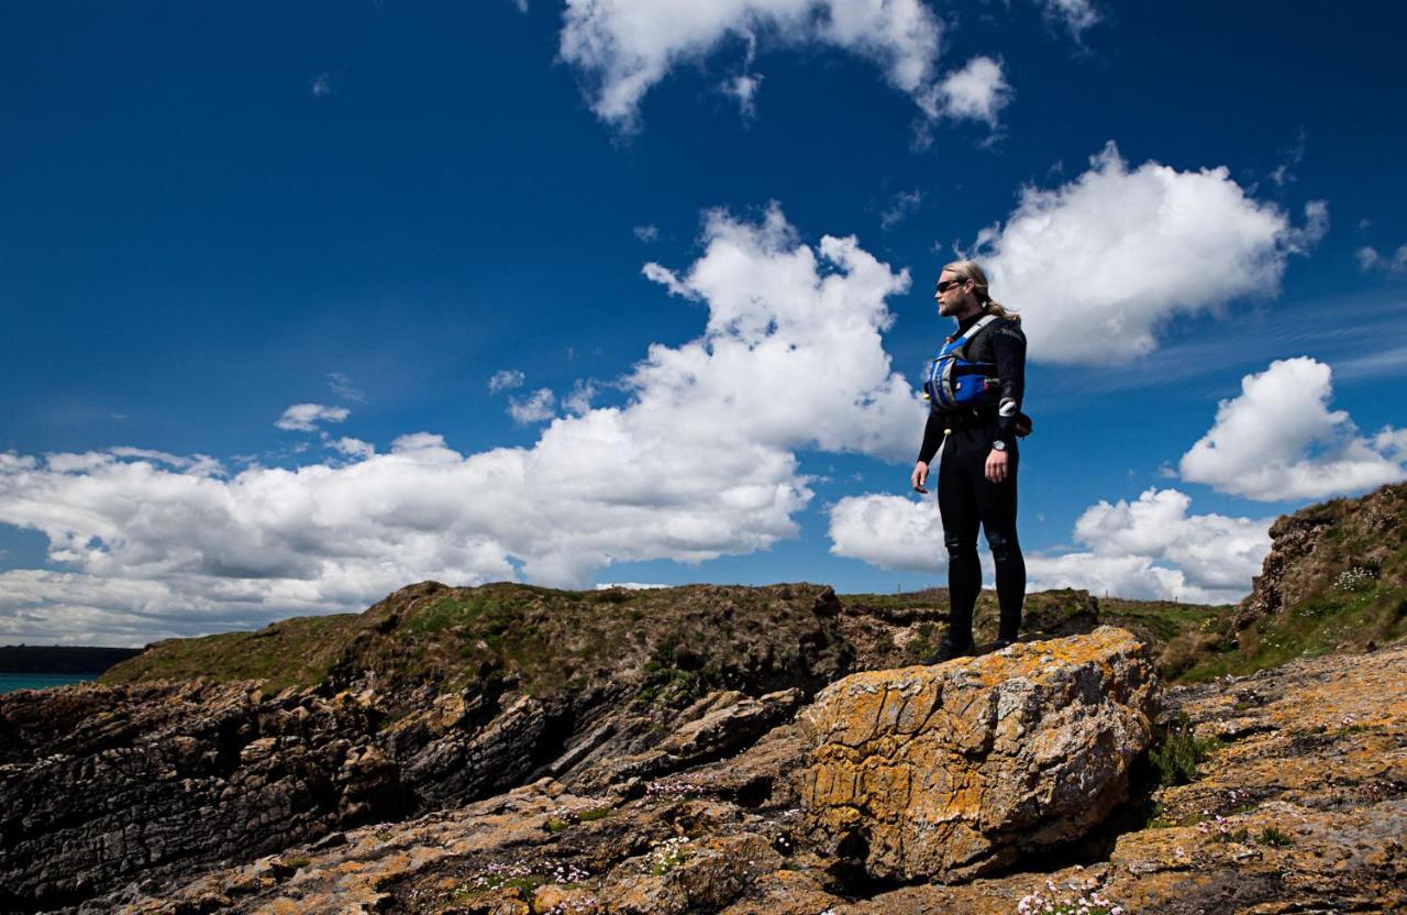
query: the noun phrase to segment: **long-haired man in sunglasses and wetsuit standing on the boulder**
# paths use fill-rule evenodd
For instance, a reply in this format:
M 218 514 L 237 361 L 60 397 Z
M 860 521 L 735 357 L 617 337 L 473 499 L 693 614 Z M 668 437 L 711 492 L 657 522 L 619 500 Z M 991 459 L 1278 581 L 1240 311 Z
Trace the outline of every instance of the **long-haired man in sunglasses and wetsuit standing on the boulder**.
M 957 320 L 957 332 L 924 372 L 929 424 L 909 483 L 927 493 L 929 462 L 938 465 L 938 514 L 948 549 L 948 633 L 924 663 L 974 655 L 972 608 L 982 590 L 976 557 L 978 525 L 996 564 L 1002 605 L 998 649 L 1016 640 L 1026 598 L 1026 560 L 1016 538 L 1016 436 L 1030 432 L 1021 412 L 1026 386 L 1026 335 L 1021 318 L 993 301 L 986 274 L 972 260 L 943 267 L 933 296 L 938 314 Z

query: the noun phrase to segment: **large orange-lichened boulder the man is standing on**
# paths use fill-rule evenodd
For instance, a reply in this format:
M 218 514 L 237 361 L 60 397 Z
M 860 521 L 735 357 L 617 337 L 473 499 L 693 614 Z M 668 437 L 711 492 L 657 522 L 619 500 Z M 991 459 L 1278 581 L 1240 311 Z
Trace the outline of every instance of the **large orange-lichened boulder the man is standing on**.
M 1109 626 L 846 677 L 799 717 L 813 839 L 881 880 L 968 878 L 1068 842 L 1126 797 L 1157 687 L 1144 645 Z

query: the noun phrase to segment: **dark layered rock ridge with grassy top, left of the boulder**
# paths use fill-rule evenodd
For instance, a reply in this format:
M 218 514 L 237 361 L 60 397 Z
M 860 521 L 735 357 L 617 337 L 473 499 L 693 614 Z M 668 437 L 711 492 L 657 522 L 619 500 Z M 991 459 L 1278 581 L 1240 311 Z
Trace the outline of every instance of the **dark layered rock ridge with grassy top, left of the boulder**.
M 317 683 L 149 679 L 201 652 L 217 666 L 215 636 L 111 683 L 0 695 L 0 909 L 151 888 L 549 773 L 642 791 L 747 746 L 850 663 L 830 588 L 673 591 L 425 583 L 359 618 L 239 633 Z M 300 642 L 300 625 L 333 632 Z

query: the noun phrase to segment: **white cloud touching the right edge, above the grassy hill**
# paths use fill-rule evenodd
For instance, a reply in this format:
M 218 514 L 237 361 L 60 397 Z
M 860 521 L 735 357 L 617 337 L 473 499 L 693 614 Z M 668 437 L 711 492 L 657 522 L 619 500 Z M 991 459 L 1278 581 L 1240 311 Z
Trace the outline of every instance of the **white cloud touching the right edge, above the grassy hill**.
M 1330 410 L 1332 369 L 1300 356 L 1241 379 L 1241 394 L 1182 456 L 1183 480 L 1262 501 L 1324 498 L 1407 479 L 1396 434 L 1373 439 Z

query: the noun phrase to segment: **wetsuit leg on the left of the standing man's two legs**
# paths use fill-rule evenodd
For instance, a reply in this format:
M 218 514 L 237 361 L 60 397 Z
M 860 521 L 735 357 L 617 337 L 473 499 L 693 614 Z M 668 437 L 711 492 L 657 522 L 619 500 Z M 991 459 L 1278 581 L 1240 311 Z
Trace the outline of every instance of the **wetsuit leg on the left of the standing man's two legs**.
M 971 473 L 972 448 L 955 432 L 943 446 L 938 463 L 938 514 L 943 518 L 943 545 L 948 549 L 948 640 L 964 646 L 972 642 L 972 608 L 982 590 L 982 564 L 976 557 L 976 532 L 981 524 Z

